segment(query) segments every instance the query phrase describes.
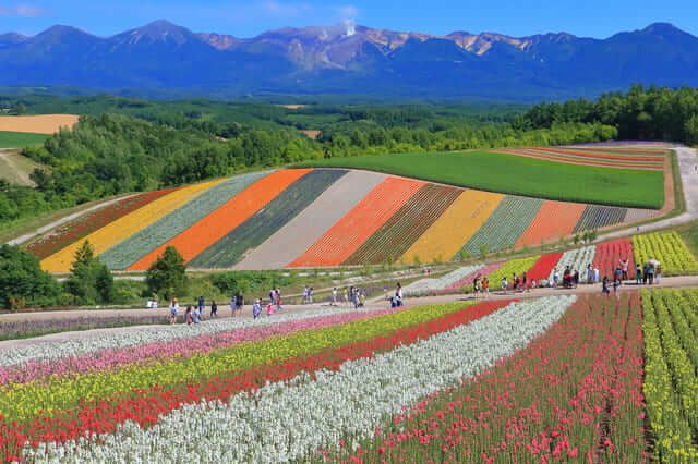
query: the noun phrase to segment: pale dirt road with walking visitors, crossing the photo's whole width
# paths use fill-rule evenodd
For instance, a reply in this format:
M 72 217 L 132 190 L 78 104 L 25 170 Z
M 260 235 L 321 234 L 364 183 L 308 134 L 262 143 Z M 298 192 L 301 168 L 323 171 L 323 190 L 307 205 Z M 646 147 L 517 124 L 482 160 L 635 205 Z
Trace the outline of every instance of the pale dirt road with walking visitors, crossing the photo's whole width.
M 652 285 L 651 288 L 687 288 L 687 286 L 698 286 L 698 276 L 689 276 L 689 277 L 667 277 L 662 279 L 662 283 L 660 285 Z M 638 286 L 634 284 L 627 284 L 621 288 L 619 292 L 635 290 Z M 529 293 L 508 293 L 502 294 L 501 292 L 493 292 L 489 300 L 507 300 L 507 298 L 535 298 L 542 296 L 551 296 L 551 295 L 568 295 L 568 294 L 592 294 L 600 293 L 601 285 L 579 285 L 577 289 L 535 289 Z M 407 307 L 414 306 L 423 306 L 428 304 L 436 304 L 436 303 L 453 303 L 457 301 L 471 301 L 474 300 L 472 296 L 464 296 L 464 295 L 440 295 L 440 296 L 426 296 L 421 298 L 408 298 L 406 301 Z M 326 302 L 315 303 L 313 305 L 296 305 L 296 306 L 287 306 L 285 312 L 287 313 L 301 313 L 309 309 L 317 309 L 321 307 L 326 307 Z M 387 306 L 387 303 L 383 301 L 383 298 L 376 298 L 370 301 L 366 305 L 366 309 L 383 309 Z M 365 310 L 365 309 L 359 309 Z M 206 309 L 206 315 L 208 315 L 209 309 Z M 221 317 L 229 317 L 230 309 L 228 305 L 220 305 L 218 313 Z M 79 316 L 111 316 L 117 317 L 120 315 L 161 315 L 163 320 L 167 320 L 168 310 L 167 308 L 159 309 L 130 309 L 128 312 L 123 310 L 71 310 L 71 312 L 55 312 L 55 313 L 26 313 L 26 314 L 9 314 L 9 315 L 0 315 L 0 322 L 10 321 L 10 320 L 29 320 L 29 319 L 45 319 L 45 318 L 60 318 L 60 317 L 79 317 Z M 244 318 L 252 317 L 252 308 L 250 305 L 245 307 L 242 312 L 242 316 Z M 263 316 L 264 317 L 264 316 Z M 274 316 L 272 316 L 274 317 Z M 204 321 L 203 323 L 206 323 Z M 184 325 L 180 325 L 182 330 L 196 330 L 196 328 L 190 328 Z M 4 350 L 12 350 L 20 346 L 29 346 L 29 345 L 40 345 L 43 343 L 56 342 L 56 341 L 69 341 L 69 340 L 85 340 L 91 338 L 98 338 L 104 335 L 105 333 L 127 333 L 129 331 L 137 331 L 142 330 L 144 327 L 153 328 L 154 326 L 133 326 L 133 327 L 121 327 L 121 328 L 112 328 L 112 329 L 95 329 L 95 330 L 86 330 L 86 331 L 76 331 L 76 332 L 63 332 L 63 333 L 53 333 L 49 335 L 37 337 L 33 339 L 23 339 L 23 340 L 8 340 L 0 342 L 0 352 Z

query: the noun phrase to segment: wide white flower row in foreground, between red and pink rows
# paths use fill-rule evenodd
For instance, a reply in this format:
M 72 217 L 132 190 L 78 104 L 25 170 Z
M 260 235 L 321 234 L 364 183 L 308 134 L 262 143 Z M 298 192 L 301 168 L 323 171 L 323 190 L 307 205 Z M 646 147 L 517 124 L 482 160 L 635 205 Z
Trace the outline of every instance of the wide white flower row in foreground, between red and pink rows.
M 27 450 L 29 462 L 280 463 L 303 460 L 342 438 L 369 439 L 402 407 L 526 346 L 565 313 L 574 296 L 514 303 L 482 319 L 339 371 L 303 374 L 254 396 L 183 406 L 149 429 Z

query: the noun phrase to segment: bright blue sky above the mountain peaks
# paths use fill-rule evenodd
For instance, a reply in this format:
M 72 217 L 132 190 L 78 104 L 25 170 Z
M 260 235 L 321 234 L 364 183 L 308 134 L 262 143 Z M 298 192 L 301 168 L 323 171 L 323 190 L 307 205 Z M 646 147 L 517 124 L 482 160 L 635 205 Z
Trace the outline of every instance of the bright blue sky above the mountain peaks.
M 599 38 L 671 22 L 698 35 L 696 0 L 0 0 L 0 32 L 35 34 L 53 24 L 69 24 L 108 36 L 157 19 L 195 32 L 238 37 L 342 20 L 432 34 L 491 30 L 521 36 L 564 30 Z

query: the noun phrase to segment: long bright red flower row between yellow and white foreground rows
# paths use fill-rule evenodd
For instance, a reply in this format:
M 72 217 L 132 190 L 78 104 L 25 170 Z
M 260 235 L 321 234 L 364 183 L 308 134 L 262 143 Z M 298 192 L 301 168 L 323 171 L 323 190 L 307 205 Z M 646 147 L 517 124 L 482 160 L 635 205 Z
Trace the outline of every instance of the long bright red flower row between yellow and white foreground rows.
M 29 441 L 36 439 L 36 441 L 63 442 L 91 434 L 113 432 L 117 426 L 125 420 L 135 422 L 141 427 L 149 426 L 154 423 L 154 418 L 167 415 L 184 404 L 200 403 L 202 400 L 228 401 L 237 392 L 254 392 L 265 383 L 289 380 L 301 373 L 314 373 L 321 369 L 338 370 L 347 361 L 372 357 L 376 353 L 387 352 L 399 345 L 416 343 L 421 339 L 480 319 L 508 303 L 492 302 L 464 308 L 413 328 L 324 350 L 309 356 L 292 357 L 282 364 L 255 366 L 242 374 L 231 373 L 205 382 L 186 384 L 185 388 L 164 389 L 156 386 L 147 392 L 140 392 L 141 398 L 134 396 L 115 402 L 100 400 L 83 404 L 79 411 L 68 417 L 58 415 L 48 420 L 41 418 L 38 423 L 33 420 L 24 435 L 28 436 Z M 70 426 L 67 427 L 65 420 L 71 420 Z M 52 430 L 50 438 L 46 435 L 47 430 Z M 70 431 L 56 434 L 56 430 Z

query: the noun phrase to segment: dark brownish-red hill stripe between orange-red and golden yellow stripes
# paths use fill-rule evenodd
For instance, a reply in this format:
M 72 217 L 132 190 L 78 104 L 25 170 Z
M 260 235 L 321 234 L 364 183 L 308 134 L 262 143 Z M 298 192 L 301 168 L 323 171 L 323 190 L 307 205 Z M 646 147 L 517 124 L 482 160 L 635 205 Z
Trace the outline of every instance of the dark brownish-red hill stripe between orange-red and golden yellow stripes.
M 426 184 L 346 260 L 345 265 L 397 261 L 460 195 L 460 190 Z

